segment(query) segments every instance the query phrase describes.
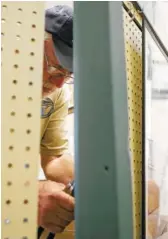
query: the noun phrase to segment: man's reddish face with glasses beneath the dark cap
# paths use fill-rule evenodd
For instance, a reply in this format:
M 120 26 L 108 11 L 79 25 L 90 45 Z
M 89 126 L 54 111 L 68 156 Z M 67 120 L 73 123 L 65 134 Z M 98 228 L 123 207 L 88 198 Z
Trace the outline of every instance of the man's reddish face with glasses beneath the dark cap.
M 43 96 L 52 93 L 56 88 L 61 88 L 70 73 L 59 65 L 55 56 L 52 38 L 44 42 L 44 63 L 43 63 Z

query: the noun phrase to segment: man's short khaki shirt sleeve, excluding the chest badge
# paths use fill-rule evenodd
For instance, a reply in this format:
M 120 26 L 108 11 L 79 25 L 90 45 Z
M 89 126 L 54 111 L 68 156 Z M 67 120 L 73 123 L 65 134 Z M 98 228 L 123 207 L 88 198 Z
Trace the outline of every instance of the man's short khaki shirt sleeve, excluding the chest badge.
M 68 153 L 68 130 L 66 118 L 68 115 L 68 98 L 62 88 L 50 115 L 45 133 L 41 140 L 41 154 L 59 156 Z

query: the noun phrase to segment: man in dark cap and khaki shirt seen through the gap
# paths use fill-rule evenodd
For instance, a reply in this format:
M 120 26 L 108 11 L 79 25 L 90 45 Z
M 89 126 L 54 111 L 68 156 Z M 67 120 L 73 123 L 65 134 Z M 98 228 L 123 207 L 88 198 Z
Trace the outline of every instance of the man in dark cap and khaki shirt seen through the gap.
M 73 72 L 72 27 L 70 7 L 46 10 L 40 154 L 47 180 L 39 181 L 38 224 L 54 233 L 63 231 L 74 218 L 74 199 L 63 192 L 74 178 L 65 129 L 68 99 L 62 88 Z

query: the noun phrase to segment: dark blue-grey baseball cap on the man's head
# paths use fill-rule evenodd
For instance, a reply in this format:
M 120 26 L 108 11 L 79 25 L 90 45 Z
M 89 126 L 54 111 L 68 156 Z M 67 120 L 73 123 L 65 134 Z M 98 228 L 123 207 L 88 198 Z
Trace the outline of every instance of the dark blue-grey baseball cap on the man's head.
M 56 57 L 64 68 L 73 72 L 73 10 L 57 5 L 45 11 L 45 31 L 52 34 Z

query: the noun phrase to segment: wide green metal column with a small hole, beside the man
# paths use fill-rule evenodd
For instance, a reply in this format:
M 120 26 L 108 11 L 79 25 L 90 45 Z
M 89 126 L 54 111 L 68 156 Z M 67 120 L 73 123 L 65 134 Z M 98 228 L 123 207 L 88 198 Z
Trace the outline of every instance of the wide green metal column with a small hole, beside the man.
M 76 238 L 132 239 L 121 2 L 74 2 Z

